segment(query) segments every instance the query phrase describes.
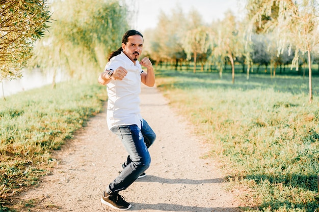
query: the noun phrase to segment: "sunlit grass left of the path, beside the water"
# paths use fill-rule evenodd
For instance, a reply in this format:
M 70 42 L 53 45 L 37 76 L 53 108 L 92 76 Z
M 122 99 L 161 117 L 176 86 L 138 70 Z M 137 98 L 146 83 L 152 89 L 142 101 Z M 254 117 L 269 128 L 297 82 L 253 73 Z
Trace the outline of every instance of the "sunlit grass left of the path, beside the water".
M 71 81 L 0 100 L 0 205 L 49 172 L 50 153 L 100 112 L 106 98 L 98 83 Z

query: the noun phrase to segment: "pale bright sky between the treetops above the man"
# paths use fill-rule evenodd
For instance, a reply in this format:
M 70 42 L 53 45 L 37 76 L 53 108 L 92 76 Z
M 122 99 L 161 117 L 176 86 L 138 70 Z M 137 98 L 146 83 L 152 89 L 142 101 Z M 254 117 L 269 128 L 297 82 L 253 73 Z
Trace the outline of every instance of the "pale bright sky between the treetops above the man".
M 143 32 L 147 28 L 154 28 L 159 12 L 162 10 L 169 15 L 177 5 L 181 6 L 185 15 L 194 8 L 202 15 L 205 23 L 223 19 L 228 9 L 238 16 L 244 8 L 241 0 L 136 0 L 137 30 Z

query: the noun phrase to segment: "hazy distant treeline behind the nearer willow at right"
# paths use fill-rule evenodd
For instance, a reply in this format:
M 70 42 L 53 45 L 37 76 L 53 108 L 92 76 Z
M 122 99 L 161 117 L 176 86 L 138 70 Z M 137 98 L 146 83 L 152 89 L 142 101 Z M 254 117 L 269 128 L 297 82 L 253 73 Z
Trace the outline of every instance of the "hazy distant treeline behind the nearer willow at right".
M 278 6 L 273 10 L 275 8 Z M 147 44 L 144 51 L 156 65 L 170 64 L 175 70 L 184 67 L 196 72 L 199 66 L 200 71 L 215 69 L 222 74 L 225 66 L 232 63 L 241 65 L 242 71 L 248 74 L 259 72 L 260 67 L 263 68 L 261 71 L 268 70 L 272 75 L 276 75 L 277 70 L 305 70 L 309 59 L 305 50 L 296 48 L 293 42 L 280 46 L 281 38 L 275 32 L 263 32 L 258 23 L 253 24 L 253 31 L 249 34 L 250 16 L 238 20 L 227 11 L 224 19 L 207 25 L 198 11 L 185 14 L 177 6 L 169 14 L 162 12 L 157 26 L 145 31 Z M 270 17 L 263 19 L 267 18 Z M 318 50 L 314 46 L 311 51 L 312 65 L 319 64 Z M 298 58 L 295 57 L 296 51 Z M 295 64 L 294 59 L 297 59 Z

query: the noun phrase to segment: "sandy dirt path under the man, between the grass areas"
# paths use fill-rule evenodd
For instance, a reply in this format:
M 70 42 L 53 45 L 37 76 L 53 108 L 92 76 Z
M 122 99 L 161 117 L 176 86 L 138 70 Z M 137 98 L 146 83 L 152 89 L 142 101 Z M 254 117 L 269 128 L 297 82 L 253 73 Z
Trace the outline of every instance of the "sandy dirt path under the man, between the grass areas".
M 147 176 L 120 192 L 132 204 L 130 211 L 240 211 L 224 190 L 223 175 L 211 159 L 200 157 L 209 149 L 195 137 L 192 126 L 178 117 L 155 87 L 142 87 L 143 117 L 157 138 L 150 147 L 152 163 Z M 103 189 L 116 177 L 126 152 L 107 129 L 106 113 L 58 151 L 59 162 L 40 185 L 18 199 L 41 201 L 29 211 L 117 211 L 101 204 Z

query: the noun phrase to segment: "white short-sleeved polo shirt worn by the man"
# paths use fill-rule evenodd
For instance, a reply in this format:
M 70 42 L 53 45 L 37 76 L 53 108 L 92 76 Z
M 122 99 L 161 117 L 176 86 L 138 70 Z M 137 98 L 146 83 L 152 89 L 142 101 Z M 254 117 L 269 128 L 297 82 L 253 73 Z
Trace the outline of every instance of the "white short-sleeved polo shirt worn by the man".
M 141 73 L 139 61 L 136 65 L 123 53 L 114 56 L 105 66 L 105 70 L 116 70 L 118 67 L 127 70 L 123 80 L 111 80 L 107 84 L 108 91 L 108 127 L 134 125 L 141 129 L 140 114 Z

